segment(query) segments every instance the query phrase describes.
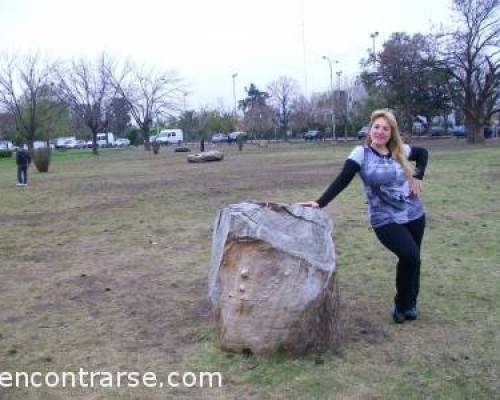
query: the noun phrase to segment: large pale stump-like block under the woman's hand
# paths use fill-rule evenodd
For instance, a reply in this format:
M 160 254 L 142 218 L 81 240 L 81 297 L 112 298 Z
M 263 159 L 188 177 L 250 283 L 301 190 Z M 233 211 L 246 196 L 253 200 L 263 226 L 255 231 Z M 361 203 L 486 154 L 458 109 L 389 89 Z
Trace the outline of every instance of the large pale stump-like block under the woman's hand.
M 263 203 L 219 210 L 208 286 L 223 349 L 301 354 L 340 338 L 335 247 L 324 211 Z

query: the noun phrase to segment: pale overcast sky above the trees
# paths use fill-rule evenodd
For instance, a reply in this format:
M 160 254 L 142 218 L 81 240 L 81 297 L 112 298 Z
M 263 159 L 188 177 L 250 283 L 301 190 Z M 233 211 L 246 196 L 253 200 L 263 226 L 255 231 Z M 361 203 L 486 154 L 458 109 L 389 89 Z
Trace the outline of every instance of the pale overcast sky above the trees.
M 451 0 L 0 0 L 0 49 L 40 49 L 53 57 L 105 50 L 172 69 L 190 85 L 188 107 L 233 104 L 254 82 L 280 75 L 303 92 L 327 90 L 323 55 L 340 61 L 343 76 L 378 31 L 429 32 L 450 19 Z M 305 49 L 305 51 L 304 51 Z M 305 57 L 304 57 L 305 53 Z M 304 63 L 305 58 L 305 63 Z M 305 65 L 305 68 L 304 68 Z

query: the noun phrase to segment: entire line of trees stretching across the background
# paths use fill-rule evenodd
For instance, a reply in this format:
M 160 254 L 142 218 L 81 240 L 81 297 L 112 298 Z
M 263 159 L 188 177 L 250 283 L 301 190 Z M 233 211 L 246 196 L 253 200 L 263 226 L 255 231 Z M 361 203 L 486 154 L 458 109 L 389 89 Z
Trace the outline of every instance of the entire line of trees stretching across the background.
M 480 143 L 483 128 L 500 118 L 500 0 L 452 4 L 453 29 L 393 33 L 380 51 L 361 60 L 361 74 L 339 80 L 337 90 L 306 98 L 296 80 L 280 76 L 264 90 L 250 83 L 237 109 L 187 110 L 188 85 L 178 75 L 106 54 L 64 62 L 37 53 L 3 54 L 0 136 L 17 135 L 32 148 L 34 140 L 77 131 L 92 138 L 95 152 L 98 132 L 128 134 L 149 149 L 158 127 L 182 128 L 191 139 L 234 130 L 267 138 L 308 129 L 339 136 L 356 132 L 373 109 L 389 108 L 407 131 L 418 117 L 430 129 L 433 117 L 446 121 L 453 112 L 468 140 Z

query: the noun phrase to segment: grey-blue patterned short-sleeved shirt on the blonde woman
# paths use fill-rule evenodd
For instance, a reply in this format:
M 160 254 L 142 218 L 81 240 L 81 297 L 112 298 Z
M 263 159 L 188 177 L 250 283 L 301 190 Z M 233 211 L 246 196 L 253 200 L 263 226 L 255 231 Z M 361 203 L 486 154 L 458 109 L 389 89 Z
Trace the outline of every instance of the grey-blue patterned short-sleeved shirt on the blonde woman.
M 406 157 L 411 148 L 403 145 Z M 420 199 L 410 194 L 403 168 L 390 155 L 383 156 L 371 147 L 356 146 L 348 157 L 359 164 L 359 174 L 368 199 L 368 217 L 374 227 L 405 224 L 424 215 Z

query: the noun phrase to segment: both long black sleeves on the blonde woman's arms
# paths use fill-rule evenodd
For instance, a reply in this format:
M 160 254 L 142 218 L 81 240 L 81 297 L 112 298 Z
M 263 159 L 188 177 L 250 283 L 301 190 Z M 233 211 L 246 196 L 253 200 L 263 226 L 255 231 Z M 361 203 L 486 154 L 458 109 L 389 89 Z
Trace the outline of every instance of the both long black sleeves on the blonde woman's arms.
M 413 175 L 416 179 L 422 180 L 425 174 L 425 168 L 427 167 L 427 160 L 429 154 L 426 149 L 422 147 L 411 146 L 410 155 L 408 156 L 409 161 L 415 161 L 416 169 Z M 360 165 L 351 159 L 347 159 L 344 163 L 344 167 L 340 174 L 335 178 L 332 184 L 326 189 L 326 191 L 321 195 L 321 197 L 316 200 L 320 208 L 326 207 L 330 201 L 332 201 L 337 195 L 342 192 L 351 183 L 352 179 L 361 169 Z

